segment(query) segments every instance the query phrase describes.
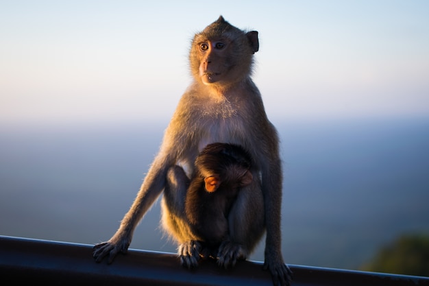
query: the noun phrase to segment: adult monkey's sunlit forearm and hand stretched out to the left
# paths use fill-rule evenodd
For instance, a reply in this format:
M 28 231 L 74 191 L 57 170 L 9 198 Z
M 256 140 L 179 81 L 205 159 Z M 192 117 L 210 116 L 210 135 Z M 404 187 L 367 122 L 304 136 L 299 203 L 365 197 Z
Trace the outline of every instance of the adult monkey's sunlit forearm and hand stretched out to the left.
M 138 222 L 164 189 L 169 165 L 171 165 L 169 158 L 163 156 L 162 153 L 158 154 L 130 207 L 130 211 L 123 217 L 117 232 L 108 241 L 94 246 L 93 257 L 95 261 L 100 262 L 104 257 L 108 257 L 108 263 L 112 263 L 119 252 L 127 252 Z

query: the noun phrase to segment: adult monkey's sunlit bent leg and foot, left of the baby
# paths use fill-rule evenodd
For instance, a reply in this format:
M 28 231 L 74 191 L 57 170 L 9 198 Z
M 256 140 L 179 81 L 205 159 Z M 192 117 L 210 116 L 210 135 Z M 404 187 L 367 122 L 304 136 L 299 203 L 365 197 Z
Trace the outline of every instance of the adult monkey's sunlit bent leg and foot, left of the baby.
M 184 204 L 189 181 L 182 167 L 169 169 L 162 199 L 162 225 L 178 243 L 180 263 L 193 268 L 198 265 L 203 247 L 192 233 L 185 215 Z

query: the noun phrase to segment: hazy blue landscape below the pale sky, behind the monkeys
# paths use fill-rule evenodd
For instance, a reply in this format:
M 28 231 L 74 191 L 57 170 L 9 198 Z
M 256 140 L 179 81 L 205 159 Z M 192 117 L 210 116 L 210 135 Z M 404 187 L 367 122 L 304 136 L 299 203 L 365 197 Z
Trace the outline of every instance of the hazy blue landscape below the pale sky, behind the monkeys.
M 109 239 L 163 128 L 3 128 L 0 234 L 89 244 Z M 360 269 L 402 235 L 429 235 L 428 121 L 278 123 L 278 129 L 287 263 Z M 175 252 L 159 220 L 158 202 L 130 247 Z M 264 245 L 250 259 L 263 261 Z

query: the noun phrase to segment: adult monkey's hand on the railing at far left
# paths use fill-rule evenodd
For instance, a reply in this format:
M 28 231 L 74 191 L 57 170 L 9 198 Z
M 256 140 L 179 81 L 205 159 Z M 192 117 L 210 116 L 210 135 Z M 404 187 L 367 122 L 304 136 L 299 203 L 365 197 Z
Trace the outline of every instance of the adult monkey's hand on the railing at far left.
M 101 262 L 104 257 L 108 257 L 108 264 L 110 264 L 119 252 L 123 254 L 127 253 L 130 243 L 131 239 L 127 237 L 121 239 L 117 238 L 117 235 L 114 235 L 109 241 L 94 246 L 93 257 L 97 263 Z

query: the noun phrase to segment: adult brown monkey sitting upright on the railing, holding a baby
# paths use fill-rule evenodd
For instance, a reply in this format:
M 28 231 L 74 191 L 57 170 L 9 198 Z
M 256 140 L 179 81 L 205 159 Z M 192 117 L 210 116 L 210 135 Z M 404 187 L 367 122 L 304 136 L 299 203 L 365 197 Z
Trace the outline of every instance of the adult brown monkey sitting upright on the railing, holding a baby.
M 197 265 L 199 248 L 189 237 L 184 214 L 186 178 L 193 174 L 199 151 L 215 142 L 241 145 L 254 159 L 252 183 L 237 195 L 228 216 L 229 239 L 218 251 L 218 264 L 230 267 L 245 259 L 267 231 L 264 268 L 274 285 L 289 285 L 291 270 L 281 251 L 280 212 L 282 166 L 278 134 L 268 120 L 262 97 L 250 78 L 258 32 L 243 32 L 222 16 L 195 34 L 189 55 L 193 82 L 182 95 L 160 151 L 152 163 L 130 211 L 109 241 L 94 247 L 97 262 L 126 252 L 134 229 L 162 190 L 162 222 L 180 243 L 184 265 Z

